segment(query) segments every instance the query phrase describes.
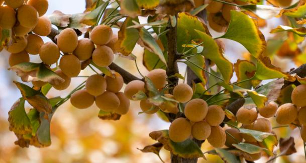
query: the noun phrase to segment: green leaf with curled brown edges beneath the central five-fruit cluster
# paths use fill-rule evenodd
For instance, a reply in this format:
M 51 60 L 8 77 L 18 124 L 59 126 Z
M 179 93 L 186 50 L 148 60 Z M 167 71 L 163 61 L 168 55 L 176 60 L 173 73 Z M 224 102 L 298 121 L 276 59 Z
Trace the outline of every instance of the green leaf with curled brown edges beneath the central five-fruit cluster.
M 200 147 L 191 139 L 186 139 L 182 142 L 174 142 L 169 138 L 168 129 L 153 131 L 149 136 L 161 142 L 166 150 L 171 151 L 174 155 L 183 158 L 199 158 L 204 157 Z

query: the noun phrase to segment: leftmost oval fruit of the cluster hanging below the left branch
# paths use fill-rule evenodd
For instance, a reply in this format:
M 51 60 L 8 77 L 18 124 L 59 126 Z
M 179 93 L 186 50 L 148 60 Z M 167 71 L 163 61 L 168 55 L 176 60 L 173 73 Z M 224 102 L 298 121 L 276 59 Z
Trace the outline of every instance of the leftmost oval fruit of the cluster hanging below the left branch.
M 86 89 L 80 89 L 71 94 L 70 103 L 76 108 L 88 108 L 94 102 L 94 96 Z

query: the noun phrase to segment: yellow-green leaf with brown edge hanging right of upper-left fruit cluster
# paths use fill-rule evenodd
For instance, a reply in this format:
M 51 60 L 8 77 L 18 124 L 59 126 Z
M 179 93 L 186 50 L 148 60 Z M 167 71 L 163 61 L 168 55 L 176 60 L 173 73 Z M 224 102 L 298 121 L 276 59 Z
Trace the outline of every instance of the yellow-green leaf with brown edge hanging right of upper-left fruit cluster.
M 132 20 L 138 21 L 138 18 L 132 19 L 128 17 L 123 22 L 118 31 L 118 41 L 115 44 L 116 50 L 126 56 L 132 52 L 139 38 L 139 31 L 137 29 L 127 28 L 128 26 L 134 25 Z

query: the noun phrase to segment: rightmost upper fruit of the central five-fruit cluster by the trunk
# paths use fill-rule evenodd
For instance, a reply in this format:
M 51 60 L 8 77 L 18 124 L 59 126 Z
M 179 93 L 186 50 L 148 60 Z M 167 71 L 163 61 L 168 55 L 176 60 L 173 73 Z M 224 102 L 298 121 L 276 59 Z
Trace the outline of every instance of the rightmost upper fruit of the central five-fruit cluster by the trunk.
M 225 117 L 225 112 L 222 107 L 218 105 L 211 105 L 208 107 L 208 112 L 205 120 L 212 126 L 217 126 L 222 123 Z

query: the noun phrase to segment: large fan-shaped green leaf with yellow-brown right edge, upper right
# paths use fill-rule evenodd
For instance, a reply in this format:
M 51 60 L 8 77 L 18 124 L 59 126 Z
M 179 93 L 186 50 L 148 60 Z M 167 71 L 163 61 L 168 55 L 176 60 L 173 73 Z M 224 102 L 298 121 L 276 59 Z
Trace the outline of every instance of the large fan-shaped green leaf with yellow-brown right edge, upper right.
M 236 10 L 231 10 L 229 27 L 220 38 L 232 39 L 241 43 L 254 57 L 259 57 L 267 45 L 264 35 L 258 29 L 256 20 Z

